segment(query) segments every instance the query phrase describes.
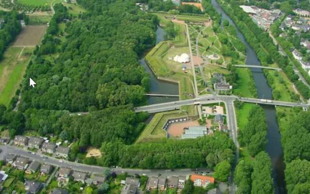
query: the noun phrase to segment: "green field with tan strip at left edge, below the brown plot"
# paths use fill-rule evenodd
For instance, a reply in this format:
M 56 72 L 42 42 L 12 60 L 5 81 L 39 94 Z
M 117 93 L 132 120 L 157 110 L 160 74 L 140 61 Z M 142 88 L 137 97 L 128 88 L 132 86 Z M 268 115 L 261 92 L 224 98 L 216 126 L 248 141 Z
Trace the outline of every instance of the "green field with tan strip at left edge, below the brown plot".
M 8 106 L 23 78 L 34 48 L 10 47 L 0 62 L 0 103 Z M 21 55 L 20 52 L 22 51 Z M 20 57 L 19 57 L 20 55 Z

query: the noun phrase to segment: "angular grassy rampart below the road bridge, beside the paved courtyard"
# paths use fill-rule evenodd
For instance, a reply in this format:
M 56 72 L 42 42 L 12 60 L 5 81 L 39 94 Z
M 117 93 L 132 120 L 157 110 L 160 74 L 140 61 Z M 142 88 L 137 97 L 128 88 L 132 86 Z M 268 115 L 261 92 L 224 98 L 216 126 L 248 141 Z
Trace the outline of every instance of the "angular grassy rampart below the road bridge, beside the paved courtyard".
M 181 111 L 169 111 L 164 113 L 156 113 L 150 123 L 142 131 L 136 143 L 148 142 L 148 141 L 164 141 L 167 139 L 167 133 L 163 129 L 165 122 L 169 118 L 176 118 L 186 116 L 186 113 Z

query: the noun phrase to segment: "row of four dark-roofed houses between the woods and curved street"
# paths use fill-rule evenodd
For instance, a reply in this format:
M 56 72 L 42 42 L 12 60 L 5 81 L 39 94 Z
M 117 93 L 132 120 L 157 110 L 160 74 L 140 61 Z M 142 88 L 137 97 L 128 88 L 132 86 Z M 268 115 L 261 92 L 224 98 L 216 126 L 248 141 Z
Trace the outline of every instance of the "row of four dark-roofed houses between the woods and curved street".
M 27 137 L 22 135 L 16 135 L 14 138 L 14 144 L 16 146 L 28 146 L 30 148 L 36 148 L 42 150 L 44 153 L 54 154 L 57 158 L 67 159 L 69 157 L 70 148 L 65 146 L 57 146 L 54 143 L 46 142 L 41 137 Z

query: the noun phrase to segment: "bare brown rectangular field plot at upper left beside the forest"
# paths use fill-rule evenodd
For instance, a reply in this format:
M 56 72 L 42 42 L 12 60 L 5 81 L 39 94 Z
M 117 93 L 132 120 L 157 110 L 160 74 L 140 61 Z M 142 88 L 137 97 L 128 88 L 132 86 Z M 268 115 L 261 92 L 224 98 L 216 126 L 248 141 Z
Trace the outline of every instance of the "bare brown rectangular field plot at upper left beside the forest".
M 13 47 L 34 47 L 39 45 L 45 32 L 47 25 L 26 26 L 16 37 Z

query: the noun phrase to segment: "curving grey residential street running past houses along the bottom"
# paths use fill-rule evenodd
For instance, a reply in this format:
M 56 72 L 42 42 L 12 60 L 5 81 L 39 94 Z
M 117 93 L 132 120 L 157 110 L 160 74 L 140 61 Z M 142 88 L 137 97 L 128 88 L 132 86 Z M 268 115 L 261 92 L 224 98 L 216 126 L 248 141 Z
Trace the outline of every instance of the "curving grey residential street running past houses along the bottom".
M 64 166 L 64 167 L 69 167 L 72 168 L 73 170 L 78 170 L 78 171 L 83 171 L 83 172 L 88 172 L 88 173 L 97 173 L 97 174 L 102 174 L 106 169 L 106 167 L 100 167 L 100 166 L 92 166 L 92 165 L 86 165 L 86 164 L 81 164 L 78 162 L 69 162 L 66 160 L 62 160 L 63 162 L 60 162 L 59 159 L 55 159 L 52 157 L 48 157 L 45 155 L 41 155 L 36 153 L 31 154 L 29 151 L 24 150 L 22 148 L 16 147 L 16 146 L 9 146 L 9 145 L 1 145 L 0 148 L 2 149 L 2 152 L 0 153 L 0 160 L 3 160 L 3 157 L 10 153 L 10 154 L 16 154 L 20 155 L 23 157 L 27 157 L 31 160 L 36 160 L 41 163 L 48 163 L 54 166 Z M 158 176 L 163 175 L 166 177 L 170 176 L 188 176 L 194 173 L 194 170 L 192 169 L 178 169 L 178 170 L 147 170 L 147 169 L 125 169 L 125 168 L 110 168 L 111 171 L 114 171 L 116 174 L 121 174 L 124 172 L 127 172 L 129 175 L 135 175 L 135 174 L 146 174 L 147 176 Z M 206 171 L 206 169 L 199 169 L 200 171 Z

